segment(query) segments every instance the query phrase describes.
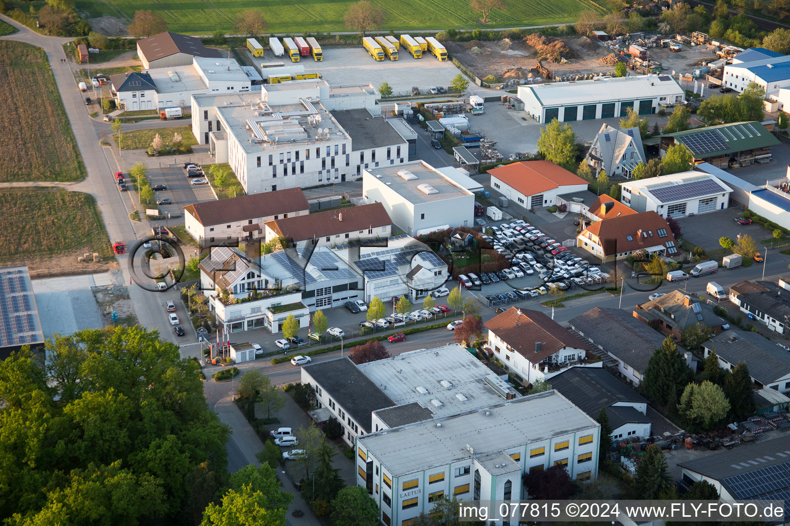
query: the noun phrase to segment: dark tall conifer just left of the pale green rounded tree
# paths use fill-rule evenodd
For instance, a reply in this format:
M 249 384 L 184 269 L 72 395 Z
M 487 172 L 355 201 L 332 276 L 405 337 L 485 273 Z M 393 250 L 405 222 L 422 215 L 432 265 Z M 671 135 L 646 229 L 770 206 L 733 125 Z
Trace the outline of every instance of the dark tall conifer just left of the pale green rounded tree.
M 653 356 L 650 356 L 641 388 L 650 401 L 666 406 L 670 391 L 677 395 L 687 386 L 693 375 L 686 360 L 680 356 L 675 341 L 668 336 Z

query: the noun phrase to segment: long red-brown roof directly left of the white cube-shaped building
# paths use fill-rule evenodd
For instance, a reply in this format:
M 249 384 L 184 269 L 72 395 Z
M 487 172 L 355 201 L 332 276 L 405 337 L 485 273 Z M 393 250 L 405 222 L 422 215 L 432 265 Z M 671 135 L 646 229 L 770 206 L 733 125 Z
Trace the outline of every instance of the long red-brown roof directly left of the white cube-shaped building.
M 359 230 L 381 228 L 393 224 L 382 203 L 363 204 L 341 210 L 328 210 L 293 218 L 276 219 L 266 223 L 278 236 L 292 241 Z

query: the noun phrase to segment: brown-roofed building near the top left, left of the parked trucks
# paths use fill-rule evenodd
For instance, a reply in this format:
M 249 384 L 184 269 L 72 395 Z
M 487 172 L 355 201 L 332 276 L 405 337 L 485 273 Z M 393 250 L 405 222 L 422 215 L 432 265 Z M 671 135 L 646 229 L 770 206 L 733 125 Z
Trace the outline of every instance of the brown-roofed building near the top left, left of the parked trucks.
M 220 50 L 205 47 L 200 39 L 179 33 L 164 32 L 137 40 L 137 57 L 143 69 L 172 68 L 190 65 L 194 57 L 221 58 Z

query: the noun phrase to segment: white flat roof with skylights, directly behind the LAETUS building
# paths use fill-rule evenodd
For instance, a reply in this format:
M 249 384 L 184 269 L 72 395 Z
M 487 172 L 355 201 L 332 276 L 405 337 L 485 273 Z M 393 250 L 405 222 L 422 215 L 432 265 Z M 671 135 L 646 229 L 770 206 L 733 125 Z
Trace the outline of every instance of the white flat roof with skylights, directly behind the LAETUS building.
M 397 405 L 417 403 L 437 417 L 502 401 L 486 379 L 506 387 L 502 379 L 458 344 L 419 349 L 357 367 Z M 418 392 L 420 387 L 424 394 Z M 517 395 L 517 391 L 512 392 Z M 433 401 L 441 405 L 437 407 Z

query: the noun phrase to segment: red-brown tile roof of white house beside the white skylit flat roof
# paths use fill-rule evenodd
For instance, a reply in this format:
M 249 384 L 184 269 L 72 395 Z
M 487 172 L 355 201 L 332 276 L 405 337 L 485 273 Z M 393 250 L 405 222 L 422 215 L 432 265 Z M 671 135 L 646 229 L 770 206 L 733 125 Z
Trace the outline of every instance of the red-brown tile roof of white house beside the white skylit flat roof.
M 584 342 L 539 311 L 511 307 L 484 325 L 531 364 L 537 364 L 565 347 L 589 351 Z M 540 342 L 537 351 L 536 342 Z

